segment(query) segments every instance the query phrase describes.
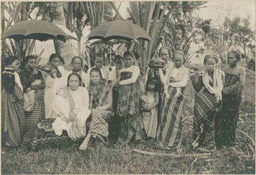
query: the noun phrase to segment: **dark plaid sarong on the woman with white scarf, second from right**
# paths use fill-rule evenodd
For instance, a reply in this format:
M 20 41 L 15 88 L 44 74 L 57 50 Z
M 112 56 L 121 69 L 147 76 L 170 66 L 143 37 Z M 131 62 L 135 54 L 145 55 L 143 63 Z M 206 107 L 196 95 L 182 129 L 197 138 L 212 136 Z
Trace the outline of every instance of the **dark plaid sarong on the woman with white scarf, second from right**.
M 216 151 L 215 116 L 217 113 L 215 94 L 207 90 L 196 93 L 193 117 L 193 148 L 201 152 Z

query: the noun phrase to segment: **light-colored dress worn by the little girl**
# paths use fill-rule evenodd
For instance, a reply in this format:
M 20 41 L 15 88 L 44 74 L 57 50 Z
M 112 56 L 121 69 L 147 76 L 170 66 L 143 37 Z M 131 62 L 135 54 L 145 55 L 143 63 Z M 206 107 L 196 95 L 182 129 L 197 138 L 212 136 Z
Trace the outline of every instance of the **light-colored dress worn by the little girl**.
M 156 101 L 155 92 L 146 92 L 145 95 L 141 97 L 142 101 L 148 104 L 154 104 Z M 147 137 L 156 138 L 157 132 L 157 109 L 152 108 L 150 112 L 142 111 L 142 120 L 144 125 L 144 130 Z

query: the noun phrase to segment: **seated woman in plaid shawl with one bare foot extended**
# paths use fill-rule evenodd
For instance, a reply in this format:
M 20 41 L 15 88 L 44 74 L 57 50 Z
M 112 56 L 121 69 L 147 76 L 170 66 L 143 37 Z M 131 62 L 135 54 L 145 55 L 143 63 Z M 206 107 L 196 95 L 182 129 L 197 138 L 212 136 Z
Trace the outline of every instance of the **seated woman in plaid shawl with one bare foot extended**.
M 92 68 L 90 71 L 91 83 L 88 87 L 90 95 L 90 110 L 92 120 L 89 133 L 80 145 L 80 149 L 87 149 L 88 143 L 93 138 L 99 138 L 106 144 L 109 136 L 108 122 L 114 115 L 112 111 L 112 86 L 102 79 L 100 69 Z

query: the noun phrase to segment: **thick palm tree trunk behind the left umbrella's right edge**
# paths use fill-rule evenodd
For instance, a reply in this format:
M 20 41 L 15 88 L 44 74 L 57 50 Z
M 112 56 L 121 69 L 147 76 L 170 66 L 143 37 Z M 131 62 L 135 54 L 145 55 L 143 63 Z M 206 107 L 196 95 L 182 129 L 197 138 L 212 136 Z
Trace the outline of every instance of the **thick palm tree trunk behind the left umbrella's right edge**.
M 66 18 L 63 11 L 62 2 L 51 2 L 51 22 L 55 24 L 60 24 L 66 27 Z M 68 42 L 54 41 L 55 52 L 60 54 L 65 60 L 65 68 L 71 69 L 71 59 L 72 57 L 78 55 L 77 49 L 72 48 L 73 46 Z

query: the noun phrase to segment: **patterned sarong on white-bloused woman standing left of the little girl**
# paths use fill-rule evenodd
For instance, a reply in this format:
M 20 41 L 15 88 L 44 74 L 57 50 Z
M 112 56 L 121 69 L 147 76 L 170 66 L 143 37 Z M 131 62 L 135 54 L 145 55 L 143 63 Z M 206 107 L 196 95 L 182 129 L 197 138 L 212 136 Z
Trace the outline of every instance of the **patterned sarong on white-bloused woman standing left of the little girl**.
M 139 82 L 119 87 L 117 115 L 122 118 L 117 145 L 142 139 L 143 122 L 139 113 Z

